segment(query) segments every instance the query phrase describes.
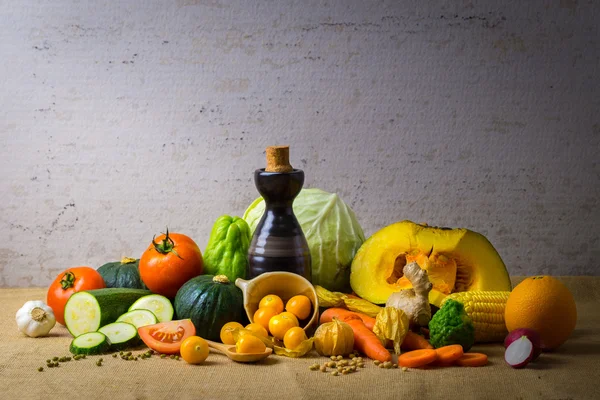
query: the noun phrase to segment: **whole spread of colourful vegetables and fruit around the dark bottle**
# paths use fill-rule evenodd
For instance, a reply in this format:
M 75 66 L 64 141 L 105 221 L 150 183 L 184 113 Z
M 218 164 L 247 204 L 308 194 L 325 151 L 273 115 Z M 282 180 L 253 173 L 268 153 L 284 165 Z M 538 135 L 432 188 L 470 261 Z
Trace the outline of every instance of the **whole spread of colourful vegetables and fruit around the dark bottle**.
M 303 190 L 294 202 L 318 301 L 303 293 L 255 294 L 260 302 L 250 315 L 235 281 L 247 276 L 251 232 L 263 211 L 257 199 L 244 218 L 219 217 L 204 254 L 189 236 L 167 230 L 139 258 L 69 268 L 50 285 L 46 303 L 29 301 L 17 312 L 17 326 L 39 337 L 56 322 L 65 325 L 77 359 L 107 352 L 127 359 L 123 352 L 142 343 L 150 355 L 190 364 L 203 363 L 217 342 L 230 357 L 302 357 L 314 348 L 328 360 L 310 369 L 333 375 L 357 372 L 362 356 L 387 369 L 484 366 L 487 356 L 471 348 L 503 341 L 506 362 L 522 368 L 574 328 L 570 292 L 544 277 L 511 292 L 502 260 L 482 235 L 401 221 L 365 241 L 352 210 L 318 189 Z M 560 301 L 544 308 L 543 298 L 554 293 Z M 540 311 L 524 315 L 531 301 Z M 318 326 L 311 327 L 317 311 Z

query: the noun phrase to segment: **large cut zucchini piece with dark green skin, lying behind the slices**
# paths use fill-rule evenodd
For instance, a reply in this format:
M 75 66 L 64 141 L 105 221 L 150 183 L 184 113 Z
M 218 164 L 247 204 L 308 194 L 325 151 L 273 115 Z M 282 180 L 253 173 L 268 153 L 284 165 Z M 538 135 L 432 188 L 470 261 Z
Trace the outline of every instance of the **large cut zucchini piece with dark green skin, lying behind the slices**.
M 143 289 L 96 289 L 73 293 L 65 305 L 65 325 L 74 337 L 115 322 L 141 297 Z

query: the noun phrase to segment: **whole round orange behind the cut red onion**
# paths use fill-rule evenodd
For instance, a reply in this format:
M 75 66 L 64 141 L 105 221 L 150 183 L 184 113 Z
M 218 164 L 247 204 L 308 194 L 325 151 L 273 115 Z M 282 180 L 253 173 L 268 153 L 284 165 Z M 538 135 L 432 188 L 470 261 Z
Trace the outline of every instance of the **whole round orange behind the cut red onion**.
M 508 296 L 504 312 L 508 331 L 529 328 L 540 334 L 541 347 L 553 350 L 575 329 L 577 307 L 567 287 L 551 276 L 533 276 Z

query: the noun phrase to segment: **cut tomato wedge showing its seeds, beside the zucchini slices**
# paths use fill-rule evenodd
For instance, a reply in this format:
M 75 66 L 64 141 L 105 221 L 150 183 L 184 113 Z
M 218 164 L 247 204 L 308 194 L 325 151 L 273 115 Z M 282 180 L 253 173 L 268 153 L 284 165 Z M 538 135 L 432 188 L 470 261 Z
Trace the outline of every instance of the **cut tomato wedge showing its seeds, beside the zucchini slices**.
M 191 319 L 160 322 L 138 328 L 138 334 L 146 346 L 164 354 L 179 353 L 181 343 L 196 334 L 196 327 Z

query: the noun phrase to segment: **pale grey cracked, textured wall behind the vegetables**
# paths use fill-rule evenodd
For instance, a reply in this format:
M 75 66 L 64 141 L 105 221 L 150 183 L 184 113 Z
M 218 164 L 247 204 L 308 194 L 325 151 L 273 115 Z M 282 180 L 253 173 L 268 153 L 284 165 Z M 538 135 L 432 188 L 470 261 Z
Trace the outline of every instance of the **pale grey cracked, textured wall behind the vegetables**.
M 527 4 L 523 4 L 527 3 Z M 599 273 L 592 1 L 0 1 L 0 286 L 203 249 L 264 148 L 365 234 L 485 234 L 513 275 Z

